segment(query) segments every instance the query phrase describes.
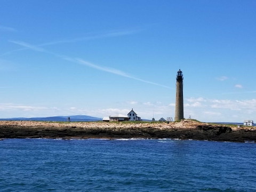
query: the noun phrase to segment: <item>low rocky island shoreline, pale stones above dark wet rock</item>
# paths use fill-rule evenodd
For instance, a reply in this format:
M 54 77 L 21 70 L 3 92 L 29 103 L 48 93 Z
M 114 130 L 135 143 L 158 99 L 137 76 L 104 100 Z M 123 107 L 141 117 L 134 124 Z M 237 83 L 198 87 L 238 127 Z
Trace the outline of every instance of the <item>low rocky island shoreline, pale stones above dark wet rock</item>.
M 256 140 L 256 127 L 200 123 L 185 119 L 181 122 L 35 122 L 0 121 L 0 139 L 193 139 L 246 142 Z

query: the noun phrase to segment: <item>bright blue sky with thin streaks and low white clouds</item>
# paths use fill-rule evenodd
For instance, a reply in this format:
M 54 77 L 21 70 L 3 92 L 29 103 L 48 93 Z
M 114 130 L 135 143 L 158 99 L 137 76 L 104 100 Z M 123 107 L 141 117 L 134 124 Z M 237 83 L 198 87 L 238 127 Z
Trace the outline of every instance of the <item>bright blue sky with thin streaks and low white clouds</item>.
M 255 1 L 0 2 L 0 117 L 256 117 Z

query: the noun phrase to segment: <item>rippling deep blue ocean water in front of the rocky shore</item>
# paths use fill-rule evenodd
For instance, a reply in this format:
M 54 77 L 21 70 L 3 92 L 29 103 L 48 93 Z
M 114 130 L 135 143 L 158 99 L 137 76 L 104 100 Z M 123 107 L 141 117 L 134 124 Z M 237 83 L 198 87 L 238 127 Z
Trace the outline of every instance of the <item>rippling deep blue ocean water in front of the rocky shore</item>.
M 0 191 L 256 191 L 256 144 L 5 139 Z

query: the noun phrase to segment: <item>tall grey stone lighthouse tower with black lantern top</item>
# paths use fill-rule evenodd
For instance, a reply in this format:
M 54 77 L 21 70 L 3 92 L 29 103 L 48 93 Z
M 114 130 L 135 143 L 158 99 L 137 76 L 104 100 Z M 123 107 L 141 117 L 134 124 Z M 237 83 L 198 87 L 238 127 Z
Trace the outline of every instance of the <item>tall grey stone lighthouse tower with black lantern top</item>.
M 175 118 L 174 121 L 178 121 L 184 118 L 183 113 L 183 75 L 182 71 L 177 72 L 176 77 L 176 102 L 175 102 Z

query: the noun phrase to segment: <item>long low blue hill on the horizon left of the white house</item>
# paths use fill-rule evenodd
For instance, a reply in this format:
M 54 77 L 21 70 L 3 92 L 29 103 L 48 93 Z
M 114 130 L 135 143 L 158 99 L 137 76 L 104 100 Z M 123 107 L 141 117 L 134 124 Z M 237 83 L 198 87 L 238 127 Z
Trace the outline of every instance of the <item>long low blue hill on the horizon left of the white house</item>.
M 102 118 L 91 117 L 87 115 L 70 115 L 70 116 L 54 116 L 54 117 L 16 117 L 16 118 L 0 118 L 0 121 L 60 121 L 65 122 L 70 117 L 70 121 L 101 121 Z

